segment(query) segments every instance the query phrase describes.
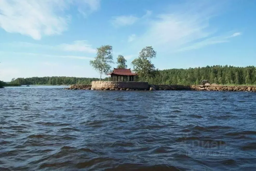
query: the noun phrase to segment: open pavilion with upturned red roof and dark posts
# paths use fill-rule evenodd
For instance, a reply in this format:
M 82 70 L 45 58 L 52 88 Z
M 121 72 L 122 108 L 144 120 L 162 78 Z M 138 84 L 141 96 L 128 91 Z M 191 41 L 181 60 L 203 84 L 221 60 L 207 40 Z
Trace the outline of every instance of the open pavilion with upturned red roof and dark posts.
M 134 76 L 136 76 L 137 73 L 132 72 L 131 68 L 129 69 L 114 68 L 113 72 L 109 73 L 108 75 L 111 75 L 111 81 L 133 81 Z

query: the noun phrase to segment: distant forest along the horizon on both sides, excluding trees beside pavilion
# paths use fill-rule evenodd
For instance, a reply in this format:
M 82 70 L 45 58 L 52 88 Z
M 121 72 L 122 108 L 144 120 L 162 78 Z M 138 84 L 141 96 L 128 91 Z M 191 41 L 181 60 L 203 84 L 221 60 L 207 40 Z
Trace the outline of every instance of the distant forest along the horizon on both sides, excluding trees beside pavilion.
M 146 80 L 150 84 L 166 85 L 197 85 L 202 80 L 209 80 L 210 83 L 221 85 L 256 85 L 256 67 L 234 67 L 234 66 L 206 66 L 189 69 L 167 69 L 154 70 Z M 28 84 L 49 84 L 49 85 L 70 85 L 70 84 L 91 84 L 98 78 L 76 78 L 76 77 L 32 77 L 17 78 L 10 82 L 10 85 Z M 103 79 L 105 81 L 109 78 Z M 137 78 L 136 80 L 140 80 Z

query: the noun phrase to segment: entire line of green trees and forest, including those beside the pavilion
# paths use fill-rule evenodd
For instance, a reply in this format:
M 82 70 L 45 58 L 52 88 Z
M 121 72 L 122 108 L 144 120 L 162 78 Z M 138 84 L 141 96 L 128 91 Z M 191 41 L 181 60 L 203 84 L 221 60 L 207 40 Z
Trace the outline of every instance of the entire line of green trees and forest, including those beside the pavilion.
M 163 85 L 198 85 L 202 80 L 221 85 L 256 85 L 255 66 L 235 67 L 213 65 L 188 69 L 155 69 L 151 59 L 156 58 L 156 51 L 152 46 L 143 48 L 138 57 L 131 62 L 133 72 L 138 73 L 136 81 L 147 81 L 150 84 Z M 117 68 L 127 68 L 123 55 L 117 57 Z M 97 48 L 97 55 L 90 65 L 100 73 L 99 78 L 76 78 L 76 77 L 32 77 L 12 79 L 9 85 L 70 85 L 70 84 L 91 84 L 91 81 L 102 80 L 102 74 L 111 71 L 113 61 L 112 46 L 106 45 Z M 110 77 L 103 79 L 110 81 Z M 0 86 L 1 86 L 0 82 Z

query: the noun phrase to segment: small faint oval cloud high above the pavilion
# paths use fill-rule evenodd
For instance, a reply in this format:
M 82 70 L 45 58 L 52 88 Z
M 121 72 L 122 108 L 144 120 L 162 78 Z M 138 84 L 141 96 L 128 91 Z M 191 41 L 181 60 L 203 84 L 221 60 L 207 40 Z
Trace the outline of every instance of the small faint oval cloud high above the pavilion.
M 115 26 L 127 26 L 134 24 L 139 18 L 134 17 L 132 15 L 130 16 L 117 16 L 113 17 L 113 20 L 111 23 Z

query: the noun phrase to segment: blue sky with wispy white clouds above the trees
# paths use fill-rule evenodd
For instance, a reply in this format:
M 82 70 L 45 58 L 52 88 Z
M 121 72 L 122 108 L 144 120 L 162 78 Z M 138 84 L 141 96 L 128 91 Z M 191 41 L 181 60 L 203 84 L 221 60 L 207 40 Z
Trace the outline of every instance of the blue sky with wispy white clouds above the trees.
M 0 80 L 99 78 L 107 44 L 128 68 L 146 46 L 158 69 L 255 66 L 255 18 L 254 0 L 0 0 Z

